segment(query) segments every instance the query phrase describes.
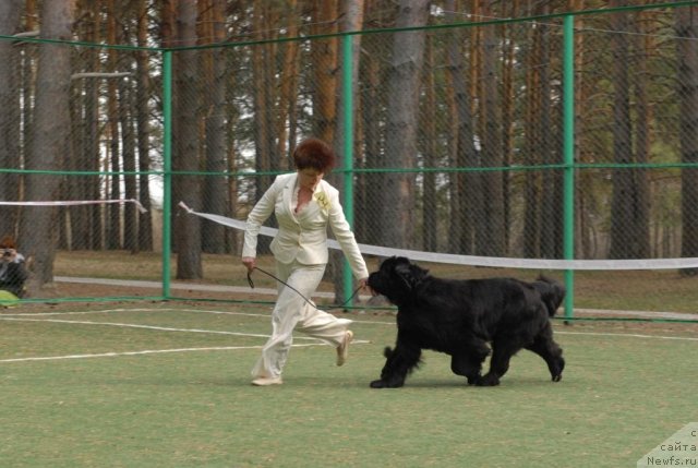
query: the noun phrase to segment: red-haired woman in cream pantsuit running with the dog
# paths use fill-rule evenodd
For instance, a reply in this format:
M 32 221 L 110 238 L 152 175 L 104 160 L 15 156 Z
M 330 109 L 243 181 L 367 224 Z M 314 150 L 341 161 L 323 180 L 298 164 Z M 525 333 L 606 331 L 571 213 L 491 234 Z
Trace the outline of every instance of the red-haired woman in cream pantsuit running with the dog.
M 279 230 L 270 249 L 279 284 L 272 313 L 272 336 L 252 370 L 253 385 L 281 384 L 281 371 L 291 348 L 293 328 L 336 347 L 337 365 L 345 363 L 353 333 L 350 320 L 337 319 L 310 304 L 327 265 L 327 225 L 344 251 L 354 277 L 363 288 L 369 277 L 354 236 L 339 204 L 339 193 L 323 177 L 335 166 L 335 154 L 325 142 L 308 139 L 292 155 L 297 171 L 278 176 L 248 217 L 242 263 L 255 267 L 257 235 L 262 224 L 276 214 Z M 300 292 L 300 295 L 299 295 Z M 301 296 L 302 295 L 302 296 Z

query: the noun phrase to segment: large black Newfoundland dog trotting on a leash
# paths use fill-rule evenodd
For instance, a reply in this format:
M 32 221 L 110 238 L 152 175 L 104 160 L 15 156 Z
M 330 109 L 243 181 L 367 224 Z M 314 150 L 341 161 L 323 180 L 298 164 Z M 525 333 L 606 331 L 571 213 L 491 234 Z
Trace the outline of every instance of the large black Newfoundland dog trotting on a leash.
M 422 349 L 449 355 L 452 371 L 469 384 L 498 385 L 521 348 L 545 360 L 553 382 L 562 379 L 565 360 L 553 341 L 550 317 L 565 289 L 552 279 L 442 279 L 393 256 L 369 276 L 369 286 L 398 308 L 397 343 L 395 349 L 385 348 L 387 360 L 381 379 L 371 382 L 373 388 L 402 386 Z M 489 343 L 490 372 L 481 375 Z

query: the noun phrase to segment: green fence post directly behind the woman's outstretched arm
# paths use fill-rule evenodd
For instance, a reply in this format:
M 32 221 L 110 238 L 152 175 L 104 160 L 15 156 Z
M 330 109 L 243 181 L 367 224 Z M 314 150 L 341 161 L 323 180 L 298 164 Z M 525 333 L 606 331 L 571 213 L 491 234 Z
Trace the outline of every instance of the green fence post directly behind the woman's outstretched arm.
M 344 100 L 344 123 L 345 123 L 345 172 L 344 172 L 344 191 L 345 191 L 345 215 L 349 226 L 353 229 L 353 36 L 345 34 L 341 36 L 342 45 L 342 63 L 341 63 L 341 83 L 342 83 L 342 100 Z M 345 298 L 351 297 L 353 292 L 353 275 L 347 259 L 344 265 L 344 290 Z M 352 305 L 352 304 L 348 304 Z

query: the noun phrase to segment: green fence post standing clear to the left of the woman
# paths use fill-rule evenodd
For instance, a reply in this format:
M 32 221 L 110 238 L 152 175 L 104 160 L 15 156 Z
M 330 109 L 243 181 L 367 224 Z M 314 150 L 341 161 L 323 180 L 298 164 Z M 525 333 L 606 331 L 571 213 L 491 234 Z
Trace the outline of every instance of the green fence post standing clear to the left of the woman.
M 163 297 L 170 297 L 172 235 L 172 51 L 163 52 Z

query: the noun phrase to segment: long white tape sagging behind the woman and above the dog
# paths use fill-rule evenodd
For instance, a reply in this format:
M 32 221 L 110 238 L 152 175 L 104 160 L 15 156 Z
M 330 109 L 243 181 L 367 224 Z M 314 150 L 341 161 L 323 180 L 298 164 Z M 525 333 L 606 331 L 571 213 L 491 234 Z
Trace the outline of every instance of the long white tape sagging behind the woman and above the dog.
M 238 219 L 227 218 L 209 213 L 198 213 L 180 202 L 179 206 L 186 213 L 202 218 L 228 226 L 234 229 L 244 230 L 246 223 Z M 274 237 L 278 229 L 263 226 L 263 236 Z M 339 243 L 328 240 L 330 249 L 339 249 Z M 393 249 L 381 245 L 370 245 L 360 243 L 359 249 L 364 255 L 378 256 L 407 256 L 413 261 L 449 263 L 455 265 L 478 265 L 494 266 L 505 268 L 533 268 L 533 269 L 674 269 L 698 267 L 698 257 L 687 259 L 640 259 L 640 260 L 554 260 L 554 259 L 510 259 L 497 256 L 478 255 L 456 255 L 452 253 L 432 253 L 418 250 Z

